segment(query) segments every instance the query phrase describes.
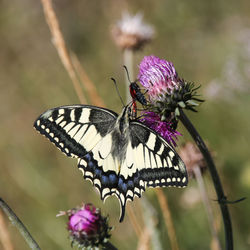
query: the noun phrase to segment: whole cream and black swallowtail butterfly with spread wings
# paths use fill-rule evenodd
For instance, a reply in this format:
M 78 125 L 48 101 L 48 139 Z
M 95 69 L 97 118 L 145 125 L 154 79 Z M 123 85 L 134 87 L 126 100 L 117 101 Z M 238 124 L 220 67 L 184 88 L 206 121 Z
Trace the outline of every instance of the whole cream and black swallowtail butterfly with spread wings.
M 102 200 L 115 195 L 121 206 L 141 197 L 146 187 L 184 187 L 185 165 L 159 134 L 131 118 L 131 105 L 115 112 L 72 105 L 50 109 L 34 123 L 67 156 L 78 159 L 83 177 L 99 190 Z

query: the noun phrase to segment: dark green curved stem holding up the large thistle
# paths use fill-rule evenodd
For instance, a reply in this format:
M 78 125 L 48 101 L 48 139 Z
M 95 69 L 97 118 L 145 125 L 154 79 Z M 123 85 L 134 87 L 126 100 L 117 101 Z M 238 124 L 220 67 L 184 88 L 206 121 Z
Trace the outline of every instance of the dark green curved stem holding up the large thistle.
M 220 181 L 220 177 L 218 175 L 218 172 L 216 170 L 215 164 L 213 162 L 213 159 L 207 149 L 207 146 L 205 145 L 204 141 L 200 137 L 199 133 L 193 126 L 193 124 L 190 122 L 188 117 L 185 115 L 182 109 L 180 109 L 180 120 L 183 123 L 183 125 L 186 127 L 190 135 L 193 137 L 195 143 L 199 147 L 201 153 L 203 154 L 204 159 L 207 162 L 208 169 L 210 171 L 210 174 L 212 176 L 212 180 L 214 183 L 214 187 L 217 193 L 218 202 L 220 205 L 223 222 L 224 222 L 224 228 L 225 228 L 225 243 L 226 243 L 226 249 L 227 250 L 233 250 L 233 231 L 232 231 L 232 224 L 231 224 L 231 218 L 229 214 L 229 210 L 227 207 L 227 198 L 224 195 L 223 187 Z

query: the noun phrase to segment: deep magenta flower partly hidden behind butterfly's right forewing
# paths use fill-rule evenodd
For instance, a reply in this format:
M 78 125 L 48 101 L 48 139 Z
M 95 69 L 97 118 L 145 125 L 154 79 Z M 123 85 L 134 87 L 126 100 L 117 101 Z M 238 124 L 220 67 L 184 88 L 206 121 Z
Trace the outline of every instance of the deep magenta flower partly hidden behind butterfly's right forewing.
M 161 121 L 160 115 L 151 111 L 144 112 L 140 121 L 160 134 L 169 144 L 176 146 L 175 140 L 181 133 L 172 128 L 171 122 Z

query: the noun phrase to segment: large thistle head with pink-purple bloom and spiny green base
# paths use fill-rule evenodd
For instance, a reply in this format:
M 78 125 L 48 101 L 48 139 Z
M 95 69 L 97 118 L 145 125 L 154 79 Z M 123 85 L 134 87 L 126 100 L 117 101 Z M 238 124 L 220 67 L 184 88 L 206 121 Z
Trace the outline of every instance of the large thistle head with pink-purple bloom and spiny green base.
M 198 99 L 193 83 L 179 78 L 173 64 L 156 56 L 145 56 L 139 66 L 138 80 L 147 90 L 148 110 L 162 121 L 177 124 L 179 108 L 196 111 Z

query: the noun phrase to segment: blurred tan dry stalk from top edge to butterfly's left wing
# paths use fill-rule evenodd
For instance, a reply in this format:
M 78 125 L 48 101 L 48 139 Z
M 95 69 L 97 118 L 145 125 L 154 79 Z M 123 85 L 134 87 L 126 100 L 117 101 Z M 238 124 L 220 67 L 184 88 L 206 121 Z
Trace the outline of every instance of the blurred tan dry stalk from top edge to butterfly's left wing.
M 43 10 L 44 10 L 44 15 L 45 19 L 48 23 L 51 36 L 52 36 L 52 41 L 54 43 L 55 48 L 57 49 L 57 52 L 59 54 L 59 57 L 66 68 L 73 86 L 75 88 L 76 94 L 80 100 L 81 103 L 86 103 L 86 98 L 82 92 L 79 80 L 77 78 L 77 74 L 74 70 L 71 58 L 69 56 L 69 52 L 66 48 L 62 32 L 60 30 L 60 26 L 55 14 L 55 11 L 53 10 L 52 7 L 52 2 L 51 0 L 41 0 L 42 5 L 43 5 Z

